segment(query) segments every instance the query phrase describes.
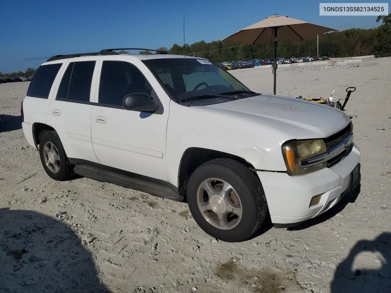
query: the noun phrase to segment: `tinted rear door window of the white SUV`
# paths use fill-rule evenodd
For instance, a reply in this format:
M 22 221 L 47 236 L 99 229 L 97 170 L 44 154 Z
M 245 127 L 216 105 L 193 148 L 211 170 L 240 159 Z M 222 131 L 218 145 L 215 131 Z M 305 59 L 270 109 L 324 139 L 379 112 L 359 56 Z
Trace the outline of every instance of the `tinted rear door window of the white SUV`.
M 57 99 L 89 102 L 94 68 L 95 61 L 70 63 L 61 80 Z

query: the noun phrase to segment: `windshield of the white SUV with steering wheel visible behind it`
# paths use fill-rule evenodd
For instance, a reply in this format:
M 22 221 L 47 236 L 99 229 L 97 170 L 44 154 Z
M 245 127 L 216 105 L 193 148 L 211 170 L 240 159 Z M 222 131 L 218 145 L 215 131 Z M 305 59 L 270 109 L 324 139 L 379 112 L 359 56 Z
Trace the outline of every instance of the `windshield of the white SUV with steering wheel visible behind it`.
M 226 93 L 253 93 L 235 77 L 208 60 L 161 58 L 143 62 L 157 75 L 176 102 L 217 97 L 220 100 L 227 98 L 223 101 L 226 102 L 231 100 Z M 235 98 L 245 97 L 247 96 Z

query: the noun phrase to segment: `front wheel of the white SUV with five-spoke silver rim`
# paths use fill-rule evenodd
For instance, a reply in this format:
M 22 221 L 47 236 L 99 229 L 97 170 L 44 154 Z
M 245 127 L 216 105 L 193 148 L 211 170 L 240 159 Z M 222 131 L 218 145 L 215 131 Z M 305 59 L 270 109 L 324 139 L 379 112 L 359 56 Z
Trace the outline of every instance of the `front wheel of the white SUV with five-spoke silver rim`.
M 213 193 L 221 191 L 216 188 L 210 189 L 209 194 L 204 191 L 215 183 L 219 188 L 227 184 L 234 192 L 226 193 L 224 203 L 221 197 Z M 207 186 L 206 189 L 203 186 Z M 246 166 L 232 159 L 213 159 L 199 166 L 190 176 L 187 201 L 190 212 L 201 229 L 226 242 L 240 242 L 249 238 L 260 228 L 267 214 L 265 193 L 258 177 Z M 227 209 L 232 210 L 232 207 L 235 207 L 235 213 L 240 214 L 240 217 L 227 212 Z M 224 216 L 227 213 L 228 216 Z M 219 220 L 219 215 L 224 219 L 223 222 Z M 231 222 L 227 219 L 231 219 Z

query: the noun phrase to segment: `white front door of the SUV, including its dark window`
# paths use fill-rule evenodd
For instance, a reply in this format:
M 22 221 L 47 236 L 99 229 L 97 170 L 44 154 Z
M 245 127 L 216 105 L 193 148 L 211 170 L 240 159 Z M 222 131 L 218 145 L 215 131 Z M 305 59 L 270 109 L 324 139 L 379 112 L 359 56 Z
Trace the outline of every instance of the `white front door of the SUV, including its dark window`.
M 165 142 L 169 107 L 163 109 L 148 80 L 152 79 L 155 88 L 160 85 L 139 60 L 135 66 L 127 61 L 104 59 L 102 56 L 100 83 L 91 112 L 92 145 L 99 163 L 167 181 Z M 124 97 L 140 92 L 148 93 L 160 103 L 161 109 L 152 114 L 124 109 Z

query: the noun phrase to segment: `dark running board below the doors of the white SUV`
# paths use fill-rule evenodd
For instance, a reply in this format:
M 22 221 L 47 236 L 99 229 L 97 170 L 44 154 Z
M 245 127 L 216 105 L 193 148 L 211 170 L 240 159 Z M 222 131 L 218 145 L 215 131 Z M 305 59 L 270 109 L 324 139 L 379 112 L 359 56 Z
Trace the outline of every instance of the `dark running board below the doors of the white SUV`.
M 87 177 L 100 182 L 113 183 L 126 188 L 136 189 L 157 197 L 168 198 L 170 200 L 182 201 L 185 197 L 179 195 L 178 190 L 169 186 L 149 182 L 143 179 L 137 179 L 122 175 L 113 171 L 104 170 L 95 166 L 77 164 L 74 172 L 80 176 Z

